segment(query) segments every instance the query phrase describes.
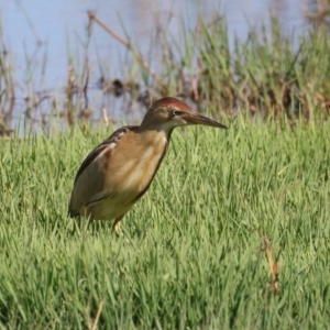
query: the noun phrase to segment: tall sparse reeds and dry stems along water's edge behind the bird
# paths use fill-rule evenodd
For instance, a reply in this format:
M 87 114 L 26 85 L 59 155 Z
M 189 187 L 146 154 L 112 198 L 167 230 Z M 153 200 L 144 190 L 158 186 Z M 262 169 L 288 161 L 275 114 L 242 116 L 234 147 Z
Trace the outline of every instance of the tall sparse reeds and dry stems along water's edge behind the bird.
M 95 90 L 103 98 L 121 98 L 127 118 L 130 109 L 135 112 L 138 109 L 142 114 L 151 100 L 168 95 L 180 96 L 200 112 L 208 109 L 231 117 L 243 112 L 257 121 L 271 117 L 295 124 L 298 119 L 309 122 L 329 117 L 330 43 L 324 14 L 309 14 L 314 25 L 310 23 L 308 32 L 300 36 L 286 35 L 273 19 L 271 31 L 251 28 L 245 41 L 234 42 L 229 40 L 226 19 L 220 15 L 208 23 L 200 18 L 195 31 L 183 28 L 182 40 L 168 36 L 165 28 L 157 26 L 156 35 L 151 36 L 154 42 L 150 57 L 160 61 L 152 64 L 142 58 L 129 36 L 120 36 L 92 12 L 88 12 L 88 33 L 85 42 L 80 41 L 82 51 L 74 54 L 72 48 L 68 50 L 67 82 L 61 91 L 42 90 L 42 84 L 35 84 L 42 81 L 42 77 L 33 77 L 33 58 L 26 59 L 29 78 L 19 84 L 2 35 L 2 135 L 13 133 L 14 110 L 24 113 L 26 123 L 34 125 L 37 122 L 44 131 L 54 117 L 61 117 L 69 125 L 91 120 L 117 122 L 113 109 L 105 108 L 105 102 L 92 102 Z M 316 23 L 317 18 L 322 21 Z M 91 77 L 88 54 L 94 29 L 105 29 L 109 37 L 128 48 L 123 76 L 111 76 L 108 64 L 99 61 L 98 68 L 94 68 L 98 75 Z M 44 54 L 42 75 L 46 57 Z M 23 100 L 18 99 L 18 89 L 24 91 Z M 18 103 L 20 109 L 16 109 Z

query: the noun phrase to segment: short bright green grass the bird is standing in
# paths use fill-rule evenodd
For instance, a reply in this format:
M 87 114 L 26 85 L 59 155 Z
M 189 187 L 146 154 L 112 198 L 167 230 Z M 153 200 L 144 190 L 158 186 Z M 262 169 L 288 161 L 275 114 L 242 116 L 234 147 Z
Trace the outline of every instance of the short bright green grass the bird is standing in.
M 330 123 L 176 130 L 124 218 L 72 233 L 75 173 L 110 132 L 1 143 L 0 328 L 326 329 Z M 280 293 L 263 240 L 279 253 Z M 91 328 L 91 327 L 90 327 Z

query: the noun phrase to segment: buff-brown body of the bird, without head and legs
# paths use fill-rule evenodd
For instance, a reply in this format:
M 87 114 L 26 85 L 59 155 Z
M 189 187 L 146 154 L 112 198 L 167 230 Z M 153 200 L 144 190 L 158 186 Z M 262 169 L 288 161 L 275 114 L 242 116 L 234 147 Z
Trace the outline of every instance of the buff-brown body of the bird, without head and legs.
M 120 135 L 122 132 L 124 134 Z M 82 213 L 105 220 L 119 218 L 148 189 L 167 151 L 170 132 L 130 127 L 116 133 L 82 162 L 84 169 L 79 170 L 74 185 L 69 215 Z M 120 139 L 116 140 L 116 135 Z

